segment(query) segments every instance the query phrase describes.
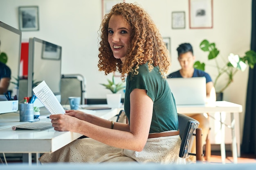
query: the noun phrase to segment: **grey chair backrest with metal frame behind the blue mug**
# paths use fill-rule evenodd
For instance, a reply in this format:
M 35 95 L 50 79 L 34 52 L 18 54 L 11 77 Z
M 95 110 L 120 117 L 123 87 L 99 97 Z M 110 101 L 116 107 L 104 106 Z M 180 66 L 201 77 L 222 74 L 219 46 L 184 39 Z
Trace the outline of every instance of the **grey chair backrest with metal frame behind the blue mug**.
M 81 74 L 63 74 L 61 76 L 61 104 L 68 105 L 68 97 L 81 97 L 85 103 L 85 78 Z

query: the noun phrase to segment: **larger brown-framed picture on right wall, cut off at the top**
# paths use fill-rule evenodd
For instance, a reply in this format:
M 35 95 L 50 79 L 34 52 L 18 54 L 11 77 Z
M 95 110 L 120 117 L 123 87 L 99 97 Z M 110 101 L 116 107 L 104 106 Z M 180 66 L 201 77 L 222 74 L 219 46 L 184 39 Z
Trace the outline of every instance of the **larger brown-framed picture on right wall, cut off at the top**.
M 189 28 L 213 28 L 213 0 L 189 0 Z

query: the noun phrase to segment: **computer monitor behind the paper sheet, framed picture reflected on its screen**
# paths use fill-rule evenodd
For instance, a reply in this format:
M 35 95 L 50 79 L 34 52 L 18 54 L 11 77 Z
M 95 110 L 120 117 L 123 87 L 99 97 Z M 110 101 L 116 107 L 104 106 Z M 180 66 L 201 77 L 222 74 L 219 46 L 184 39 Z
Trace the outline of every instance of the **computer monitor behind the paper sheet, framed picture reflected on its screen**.
M 32 96 L 33 88 L 45 81 L 61 102 L 61 52 L 61 46 L 36 37 L 29 38 L 27 96 Z M 43 107 L 43 104 L 36 100 L 34 106 Z

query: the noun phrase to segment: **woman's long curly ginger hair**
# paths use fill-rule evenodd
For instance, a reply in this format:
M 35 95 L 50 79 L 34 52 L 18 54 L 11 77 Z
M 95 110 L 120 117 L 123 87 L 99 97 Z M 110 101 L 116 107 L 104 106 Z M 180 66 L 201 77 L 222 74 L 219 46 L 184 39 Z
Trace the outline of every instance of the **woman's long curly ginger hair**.
M 124 63 L 113 56 L 108 43 L 108 23 L 112 15 L 121 15 L 132 30 Z M 144 9 L 135 4 L 116 4 L 110 13 L 105 15 L 100 31 L 99 71 L 104 71 L 106 75 L 118 71 L 122 81 L 125 81 L 124 74 L 138 74 L 139 65 L 148 62 L 149 71 L 158 66 L 162 77 L 165 77 L 171 65 L 168 50 L 159 30 Z

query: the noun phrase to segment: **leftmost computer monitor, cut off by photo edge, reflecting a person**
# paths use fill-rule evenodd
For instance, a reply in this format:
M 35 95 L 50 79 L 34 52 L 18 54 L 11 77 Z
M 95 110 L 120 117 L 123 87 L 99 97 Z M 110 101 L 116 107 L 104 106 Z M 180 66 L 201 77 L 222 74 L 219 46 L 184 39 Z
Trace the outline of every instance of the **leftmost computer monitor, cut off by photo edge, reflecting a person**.
M 13 96 L 19 96 L 19 76 L 20 76 L 20 49 L 21 31 L 0 21 L 0 62 L 4 63 L 11 70 L 11 83 L 8 92 Z M 6 67 L 2 65 L 1 67 Z M 8 93 L 7 93 L 8 94 Z M 9 105 L 9 103 L 11 103 Z M 9 113 L 18 110 L 18 102 L 15 107 L 13 103 L 7 101 L 4 94 L 0 94 L 0 113 Z

